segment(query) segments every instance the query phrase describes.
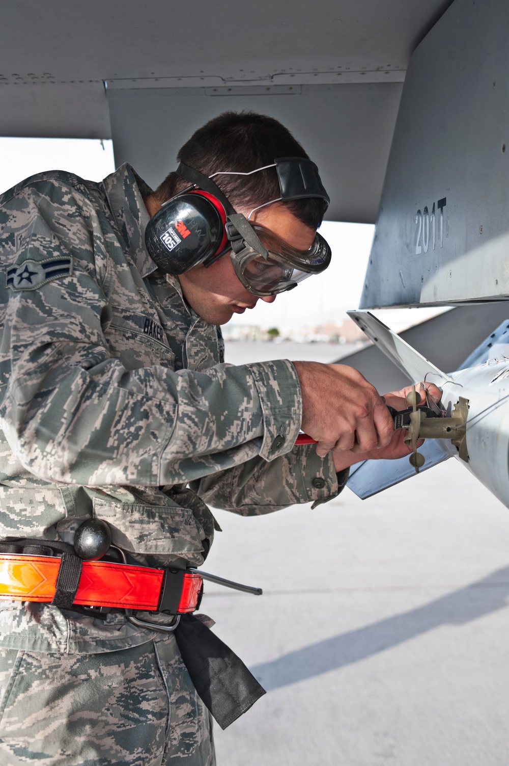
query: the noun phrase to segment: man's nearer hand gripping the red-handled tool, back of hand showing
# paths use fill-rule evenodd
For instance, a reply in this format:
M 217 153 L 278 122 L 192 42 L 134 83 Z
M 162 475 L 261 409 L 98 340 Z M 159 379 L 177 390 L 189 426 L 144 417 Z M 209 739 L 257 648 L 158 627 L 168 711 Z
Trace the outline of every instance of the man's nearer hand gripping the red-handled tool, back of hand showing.
M 364 375 L 347 365 L 292 362 L 302 391 L 302 430 L 316 453 L 369 452 L 387 447 L 394 423 L 383 398 Z

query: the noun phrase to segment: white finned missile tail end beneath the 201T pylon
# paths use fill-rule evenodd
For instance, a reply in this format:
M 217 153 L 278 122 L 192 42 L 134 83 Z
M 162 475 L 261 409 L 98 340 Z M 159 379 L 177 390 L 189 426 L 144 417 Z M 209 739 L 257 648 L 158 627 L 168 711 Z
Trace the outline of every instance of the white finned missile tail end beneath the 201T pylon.
M 442 388 L 442 412 L 441 417 L 414 414 L 407 437 L 413 447 L 411 465 L 406 457 L 367 460 L 354 466 L 347 486 L 358 496 L 369 497 L 409 478 L 416 468 L 426 470 L 455 457 L 509 507 L 509 320 L 471 353 L 461 369 L 445 373 L 370 312 L 348 315 L 411 380 Z M 416 453 L 419 438 L 426 442 Z M 416 459 L 416 454 L 422 457 Z

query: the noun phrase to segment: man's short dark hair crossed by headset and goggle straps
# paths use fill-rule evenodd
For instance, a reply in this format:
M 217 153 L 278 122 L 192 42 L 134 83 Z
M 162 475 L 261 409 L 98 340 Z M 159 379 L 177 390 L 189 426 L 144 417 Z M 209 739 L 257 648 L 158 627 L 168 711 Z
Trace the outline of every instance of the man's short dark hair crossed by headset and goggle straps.
M 270 165 L 276 157 L 309 159 L 292 133 L 277 119 L 256 112 L 224 112 L 197 129 L 180 149 L 177 159 L 211 175 L 218 170 L 248 172 Z M 216 175 L 214 182 L 227 195 L 234 208 L 256 208 L 279 197 L 276 168 L 253 175 Z M 164 202 L 186 186 L 175 172 L 169 173 L 155 191 Z M 319 198 L 285 202 L 295 218 L 316 229 L 325 214 L 325 201 Z

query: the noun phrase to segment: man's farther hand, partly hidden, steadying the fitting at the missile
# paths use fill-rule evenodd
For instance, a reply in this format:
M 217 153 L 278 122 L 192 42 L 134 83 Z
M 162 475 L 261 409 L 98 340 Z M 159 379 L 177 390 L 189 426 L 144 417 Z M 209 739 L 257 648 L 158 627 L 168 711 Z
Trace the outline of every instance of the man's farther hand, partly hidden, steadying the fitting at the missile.
M 416 385 L 416 391 L 419 391 L 422 398 L 422 404 L 425 404 L 424 389 L 428 392 L 433 401 L 439 402 L 442 397 L 442 391 L 432 383 L 419 383 Z M 397 411 L 406 410 L 408 404 L 406 404 L 406 394 L 413 390 L 413 386 L 409 385 L 406 388 L 402 388 L 400 391 L 391 391 L 390 394 L 384 394 L 386 404 L 393 407 Z M 351 452 L 334 452 L 334 467 L 339 473 L 340 471 L 353 466 L 354 463 L 360 463 L 361 460 L 397 460 L 399 457 L 405 457 L 412 451 L 411 447 L 403 443 L 403 439 L 406 437 L 406 429 L 399 428 L 393 430 L 392 439 L 387 447 L 382 447 L 375 450 L 367 450 L 364 454 Z M 423 444 L 423 440 L 417 443 L 417 446 Z

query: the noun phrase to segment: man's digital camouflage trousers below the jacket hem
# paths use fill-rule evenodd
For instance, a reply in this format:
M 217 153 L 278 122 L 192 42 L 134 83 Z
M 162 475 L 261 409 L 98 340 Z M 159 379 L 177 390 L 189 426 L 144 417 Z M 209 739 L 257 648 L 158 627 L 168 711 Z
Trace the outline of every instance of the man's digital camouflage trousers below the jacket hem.
M 0 650 L 0 764 L 215 766 L 173 636 L 100 654 Z

